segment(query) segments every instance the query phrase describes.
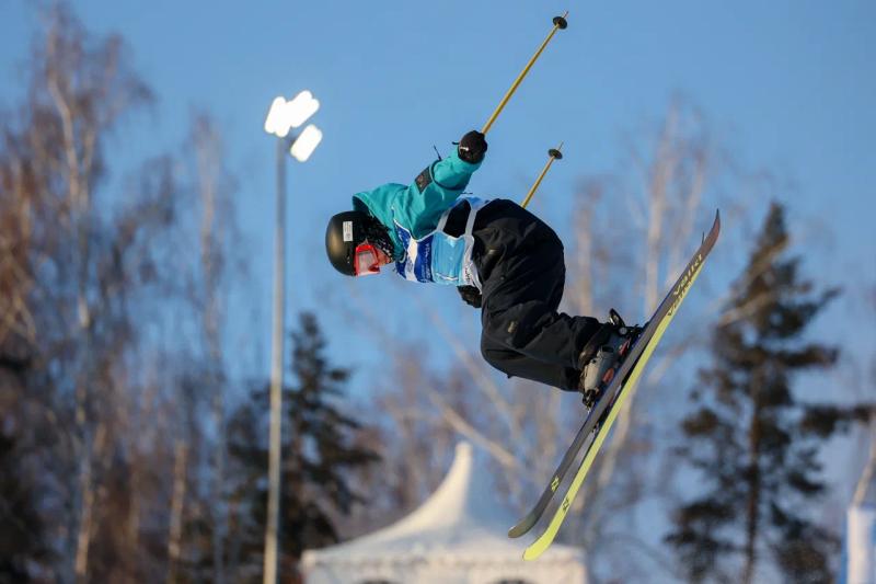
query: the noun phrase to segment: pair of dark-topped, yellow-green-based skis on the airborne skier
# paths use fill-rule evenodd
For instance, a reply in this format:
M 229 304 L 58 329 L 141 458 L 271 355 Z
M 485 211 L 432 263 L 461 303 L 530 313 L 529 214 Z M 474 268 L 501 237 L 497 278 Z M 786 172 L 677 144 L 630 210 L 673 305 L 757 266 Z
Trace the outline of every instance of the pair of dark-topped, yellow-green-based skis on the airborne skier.
M 621 362 L 619 370 L 615 373 L 615 376 L 603 392 L 601 399 L 597 401 L 593 409 L 587 415 L 578 434 L 575 436 L 575 440 L 563 456 L 556 472 L 551 478 L 551 482 L 542 493 L 538 503 L 523 519 L 508 531 L 509 537 L 519 537 L 535 525 L 546 509 L 550 501 L 553 499 L 563 477 L 568 471 L 577 454 L 587 442 L 587 438 L 592 436 L 592 439 L 587 446 L 584 460 L 566 490 L 562 503 L 557 507 L 545 530 L 523 552 L 525 560 L 534 560 L 540 557 L 556 537 L 568 509 L 572 507 L 572 502 L 575 500 L 580 485 L 584 483 L 584 479 L 587 477 L 587 472 L 590 470 L 596 455 L 599 453 L 602 443 L 614 423 L 614 419 L 618 416 L 623 405 L 624 399 L 629 394 L 630 388 L 635 386 L 652 353 L 660 342 L 666 329 L 678 312 L 678 308 L 681 306 L 681 302 L 684 300 L 688 291 L 699 276 L 706 256 L 717 241 L 719 231 L 721 215 L 716 213 L 712 229 L 703 238 L 700 249 L 693 254 L 687 267 L 681 273 L 681 276 L 679 276 L 678 280 L 670 288 L 669 294 L 667 294 L 666 298 L 660 302 L 660 306 L 657 307 L 657 310 L 642 331 L 630 354 Z

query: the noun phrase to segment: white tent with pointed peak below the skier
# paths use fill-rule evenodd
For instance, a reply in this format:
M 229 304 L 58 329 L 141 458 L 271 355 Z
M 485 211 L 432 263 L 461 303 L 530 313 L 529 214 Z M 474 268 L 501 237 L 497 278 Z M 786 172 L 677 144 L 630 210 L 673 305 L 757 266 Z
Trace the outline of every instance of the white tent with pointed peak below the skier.
M 508 539 L 514 525 L 473 467 L 472 448 L 457 446 L 443 482 L 416 511 L 346 543 L 306 551 L 307 584 L 584 584 L 580 550 L 554 545 L 533 562 L 529 540 Z

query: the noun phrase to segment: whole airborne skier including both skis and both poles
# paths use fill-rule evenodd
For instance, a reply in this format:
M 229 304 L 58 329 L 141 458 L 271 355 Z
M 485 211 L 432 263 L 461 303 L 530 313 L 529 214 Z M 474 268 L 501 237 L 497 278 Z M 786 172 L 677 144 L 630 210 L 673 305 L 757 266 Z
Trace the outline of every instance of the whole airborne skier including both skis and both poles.
M 721 232 L 721 215 L 644 327 L 626 327 L 612 309 L 607 322 L 558 312 L 566 267 L 563 243 L 526 205 L 560 148 L 521 205 L 504 198 L 463 196 L 487 150 L 486 133 L 568 13 L 553 28 L 489 116 L 446 159 L 426 167 L 410 185 L 389 183 L 353 196 L 353 210 L 328 220 L 325 249 L 347 276 L 379 274 L 394 263 L 412 282 L 457 286 L 462 299 L 481 308 L 481 353 L 508 377 L 522 377 L 566 391 L 580 391 L 587 415 L 532 509 L 508 530 L 529 533 L 554 495 L 563 501 L 525 560 L 550 547 L 572 508 L 606 436 L 678 312 Z M 581 456 L 579 456 L 584 453 Z M 580 459 L 574 478 L 560 490 Z

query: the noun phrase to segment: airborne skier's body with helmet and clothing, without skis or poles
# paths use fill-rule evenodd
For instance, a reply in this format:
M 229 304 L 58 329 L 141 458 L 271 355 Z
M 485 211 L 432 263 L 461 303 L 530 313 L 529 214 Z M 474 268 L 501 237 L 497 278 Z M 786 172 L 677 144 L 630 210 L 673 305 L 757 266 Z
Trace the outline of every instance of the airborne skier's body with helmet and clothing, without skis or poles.
M 487 363 L 509 377 L 585 392 L 588 403 L 586 386 L 593 383 L 584 371 L 638 328 L 557 311 L 566 270 L 553 229 L 512 201 L 462 195 L 486 150 L 485 136 L 469 131 L 412 184 L 354 195 L 354 210 L 328 221 L 328 260 L 347 276 L 394 263 L 405 279 L 457 286 L 465 302 L 482 309 Z

